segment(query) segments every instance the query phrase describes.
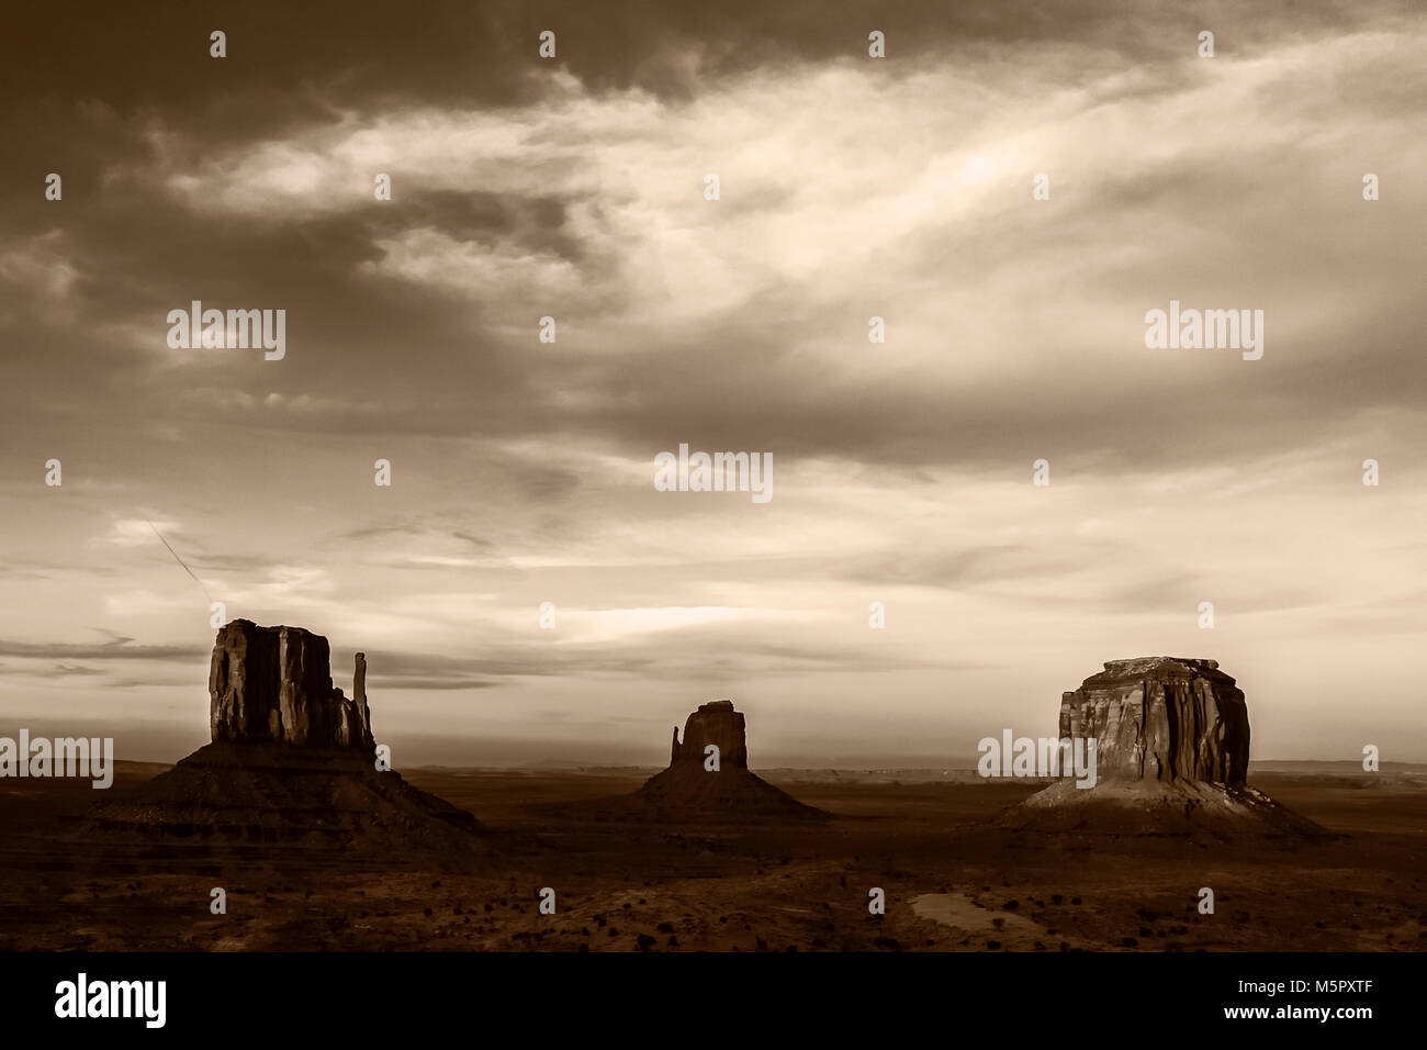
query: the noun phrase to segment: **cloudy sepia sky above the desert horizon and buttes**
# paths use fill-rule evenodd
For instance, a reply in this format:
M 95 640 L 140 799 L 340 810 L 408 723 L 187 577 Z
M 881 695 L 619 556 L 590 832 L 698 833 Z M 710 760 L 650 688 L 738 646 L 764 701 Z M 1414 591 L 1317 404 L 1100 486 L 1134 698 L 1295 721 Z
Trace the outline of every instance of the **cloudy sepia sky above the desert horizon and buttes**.
M 1257 760 L 1427 761 L 1421 7 L 879 7 L 17 13 L 0 734 L 201 746 L 223 601 L 365 651 L 398 767 L 654 764 L 712 699 L 755 767 L 969 766 L 1152 654 Z M 1261 359 L 1147 347 L 1170 300 Z M 681 444 L 772 499 L 656 490 Z

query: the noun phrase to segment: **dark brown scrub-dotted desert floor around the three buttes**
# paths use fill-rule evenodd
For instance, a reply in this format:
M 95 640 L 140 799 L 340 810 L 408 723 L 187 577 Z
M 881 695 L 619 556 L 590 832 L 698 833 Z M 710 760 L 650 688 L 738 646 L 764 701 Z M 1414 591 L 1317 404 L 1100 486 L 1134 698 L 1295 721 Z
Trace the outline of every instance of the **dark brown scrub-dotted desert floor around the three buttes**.
M 163 767 L 123 766 L 114 790 Z M 0 949 L 53 950 L 1424 950 L 1420 779 L 1253 779 L 1343 839 L 1193 844 L 979 826 L 1027 783 L 775 771 L 825 826 L 598 819 L 644 770 L 412 770 L 471 810 L 491 853 L 344 863 L 63 840 L 93 791 L 0 789 Z M 1200 887 L 1214 913 L 1197 910 Z M 227 913 L 210 911 L 210 890 Z M 541 914 L 542 887 L 555 914 Z M 869 913 L 880 889 L 886 913 Z

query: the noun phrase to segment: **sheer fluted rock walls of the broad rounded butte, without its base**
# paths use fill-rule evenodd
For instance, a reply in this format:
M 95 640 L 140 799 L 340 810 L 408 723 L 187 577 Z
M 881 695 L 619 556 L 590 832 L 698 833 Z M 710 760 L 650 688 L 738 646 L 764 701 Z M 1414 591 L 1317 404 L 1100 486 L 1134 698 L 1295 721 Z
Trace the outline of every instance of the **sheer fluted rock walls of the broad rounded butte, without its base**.
M 1249 707 L 1214 660 L 1112 660 L 1060 697 L 1060 737 L 1095 737 L 1102 780 L 1243 787 Z

